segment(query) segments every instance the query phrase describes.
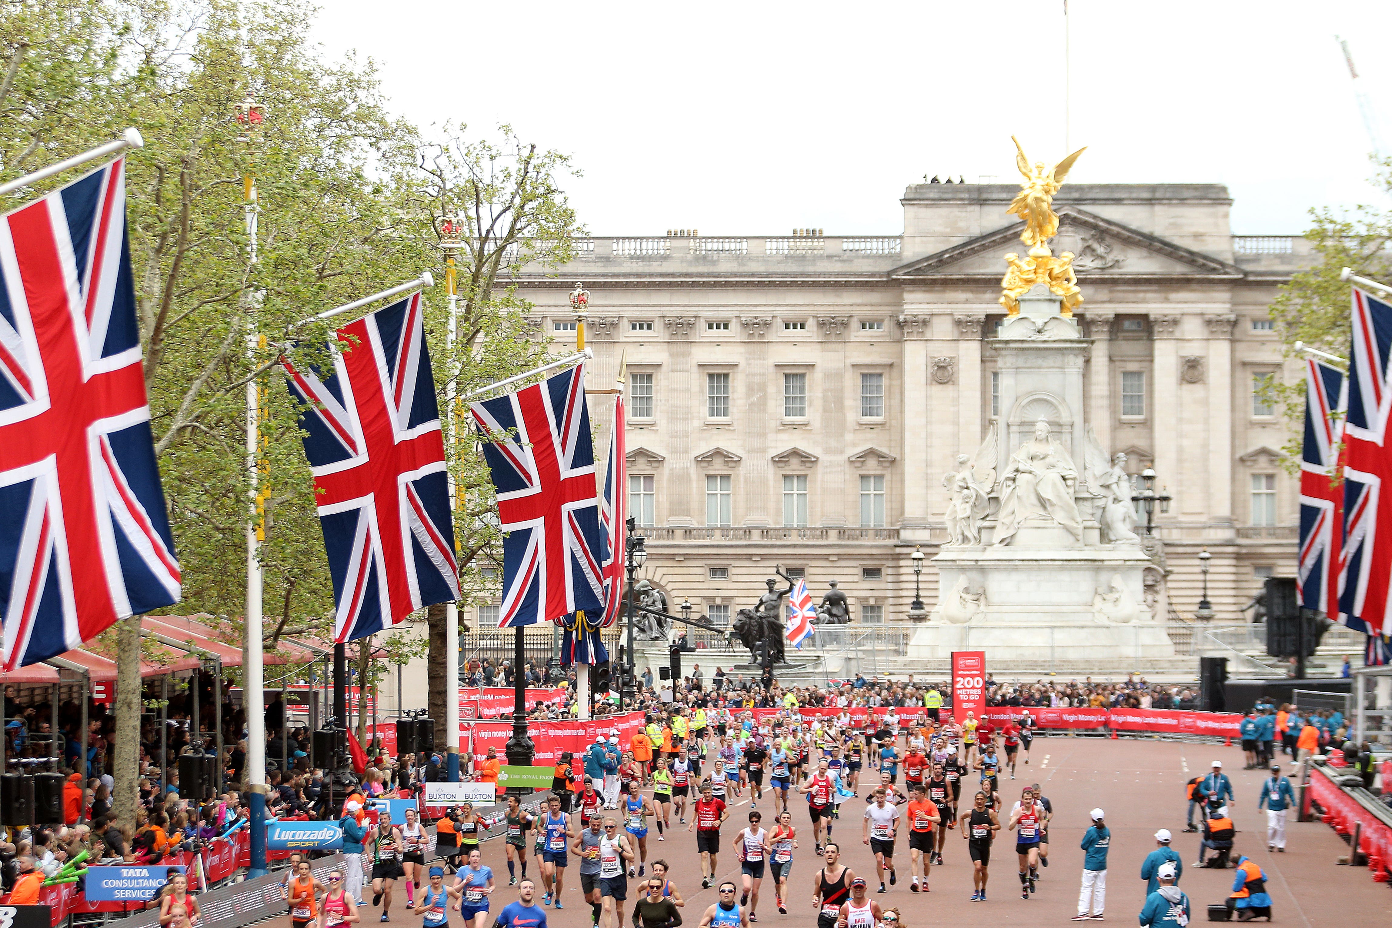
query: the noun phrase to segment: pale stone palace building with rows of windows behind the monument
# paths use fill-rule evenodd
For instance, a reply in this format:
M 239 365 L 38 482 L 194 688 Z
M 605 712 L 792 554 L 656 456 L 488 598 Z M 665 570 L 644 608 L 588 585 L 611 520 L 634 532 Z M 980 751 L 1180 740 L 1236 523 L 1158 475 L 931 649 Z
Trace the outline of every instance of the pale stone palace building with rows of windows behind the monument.
M 626 359 L 631 508 L 671 602 L 728 618 L 778 563 L 814 597 L 838 580 L 857 621 L 908 621 L 922 545 L 933 608 L 944 474 L 992 422 L 1031 415 L 1002 406 L 992 349 L 1016 189 L 909 186 L 902 235 L 594 237 L 560 271 L 526 269 L 557 351 L 567 294 L 590 291 L 592 391 Z M 1173 497 L 1154 516 L 1160 618 L 1193 616 L 1207 547 L 1217 619 L 1240 621 L 1264 576 L 1295 569 L 1299 486 L 1257 387 L 1282 369 L 1267 306 L 1306 242 L 1232 235 L 1221 185 L 1065 185 L 1054 203 L 1086 298 L 1084 417 Z M 592 410 L 607 429 L 603 392 Z

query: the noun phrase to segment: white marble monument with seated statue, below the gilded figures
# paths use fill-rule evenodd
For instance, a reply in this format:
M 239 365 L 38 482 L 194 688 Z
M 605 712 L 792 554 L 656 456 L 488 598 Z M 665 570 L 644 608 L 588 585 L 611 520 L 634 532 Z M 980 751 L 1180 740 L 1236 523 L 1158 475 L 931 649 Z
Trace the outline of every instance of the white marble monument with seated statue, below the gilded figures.
M 944 480 L 949 540 L 933 558 L 944 594 L 910 657 L 984 650 L 1045 664 L 1175 654 L 1144 605 L 1153 562 L 1133 530 L 1125 456 L 1108 455 L 1082 422 L 1091 341 L 1062 303 L 1036 285 L 988 342 L 1002 416 Z

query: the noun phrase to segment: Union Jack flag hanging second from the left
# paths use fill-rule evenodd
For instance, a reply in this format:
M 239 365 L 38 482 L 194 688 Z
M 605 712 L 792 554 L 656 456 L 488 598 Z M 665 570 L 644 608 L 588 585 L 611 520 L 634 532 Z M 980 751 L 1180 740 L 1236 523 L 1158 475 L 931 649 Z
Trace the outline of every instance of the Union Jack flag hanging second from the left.
M 281 359 L 334 582 L 334 641 L 459 598 L 420 294 L 344 326 L 333 371 Z

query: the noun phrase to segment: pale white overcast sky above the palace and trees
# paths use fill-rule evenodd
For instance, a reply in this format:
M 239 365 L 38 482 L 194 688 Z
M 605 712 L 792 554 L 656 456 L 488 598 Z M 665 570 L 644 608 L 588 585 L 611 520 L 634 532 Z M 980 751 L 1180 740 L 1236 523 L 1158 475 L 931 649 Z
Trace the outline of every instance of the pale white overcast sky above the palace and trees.
M 320 1 L 315 39 L 419 125 L 568 152 L 597 235 L 896 234 L 924 174 L 1013 182 L 1012 134 L 1066 153 L 1062 0 Z M 1237 234 L 1388 206 L 1356 92 L 1392 146 L 1392 3 L 1072 0 L 1069 24 L 1070 181 L 1226 184 Z

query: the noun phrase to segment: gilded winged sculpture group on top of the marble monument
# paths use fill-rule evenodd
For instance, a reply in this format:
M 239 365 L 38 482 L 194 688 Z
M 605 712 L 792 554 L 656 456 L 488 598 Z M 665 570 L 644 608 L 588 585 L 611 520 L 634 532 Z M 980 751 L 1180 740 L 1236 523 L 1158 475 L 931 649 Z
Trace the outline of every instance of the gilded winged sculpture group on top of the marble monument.
M 1044 284 L 1051 292 L 1063 298 L 1062 316 L 1072 317 L 1073 309 L 1083 302 L 1083 294 L 1077 287 L 1077 275 L 1073 273 L 1073 253 L 1063 252 L 1054 257 L 1048 239 L 1058 234 L 1058 213 L 1054 211 L 1054 195 L 1063 185 L 1069 168 L 1086 147 L 1077 149 L 1066 159 L 1051 168 L 1045 168 L 1043 161 L 1030 161 L 1025 157 L 1025 149 L 1013 135 L 1015 164 L 1019 167 L 1025 181 L 1020 192 L 1011 200 L 1011 207 L 1005 210 L 1019 216 L 1025 221 L 1020 231 L 1020 241 L 1030 246 L 1025 259 L 1019 253 L 1011 252 L 1005 256 L 1009 267 L 1001 278 L 1001 305 L 1011 316 L 1020 312 L 1020 296 L 1027 294 L 1036 284 Z

